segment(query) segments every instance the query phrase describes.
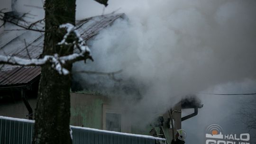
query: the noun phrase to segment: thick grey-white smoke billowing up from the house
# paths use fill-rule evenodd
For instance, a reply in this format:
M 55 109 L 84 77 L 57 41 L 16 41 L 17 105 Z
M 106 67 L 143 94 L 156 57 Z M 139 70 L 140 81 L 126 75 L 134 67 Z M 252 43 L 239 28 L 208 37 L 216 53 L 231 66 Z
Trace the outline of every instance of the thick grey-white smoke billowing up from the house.
M 78 18 L 102 13 L 101 6 L 87 2 L 79 4 L 85 7 L 78 7 Z M 95 62 L 74 68 L 122 69 L 121 79 L 134 81 L 142 95 L 130 107 L 133 113 L 162 113 L 187 94 L 256 80 L 255 0 L 110 0 L 105 13 L 119 8 L 129 20 L 102 31 L 91 44 Z M 81 77 L 96 85 L 115 85 Z

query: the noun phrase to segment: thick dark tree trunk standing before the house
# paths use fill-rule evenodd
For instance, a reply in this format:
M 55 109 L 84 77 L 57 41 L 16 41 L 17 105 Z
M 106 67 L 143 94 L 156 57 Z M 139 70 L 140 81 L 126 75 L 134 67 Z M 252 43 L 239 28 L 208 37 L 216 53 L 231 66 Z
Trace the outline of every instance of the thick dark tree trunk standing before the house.
M 73 46 L 57 45 L 65 34 L 59 26 L 75 25 L 75 0 L 45 1 L 44 55 L 72 54 Z M 64 65 L 70 73 L 72 63 Z M 61 75 L 46 63 L 39 83 L 33 144 L 72 144 L 69 133 L 71 74 Z

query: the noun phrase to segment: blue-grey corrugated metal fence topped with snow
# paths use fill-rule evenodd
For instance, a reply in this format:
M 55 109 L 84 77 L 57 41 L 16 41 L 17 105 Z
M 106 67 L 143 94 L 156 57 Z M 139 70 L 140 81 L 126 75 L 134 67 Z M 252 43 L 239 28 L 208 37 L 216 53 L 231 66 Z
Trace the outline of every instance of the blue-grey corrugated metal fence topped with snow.
M 156 144 L 161 138 L 71 126 L 73 144 Z M 0 144 L 31 144 L 34 121 L 0 116 Z

